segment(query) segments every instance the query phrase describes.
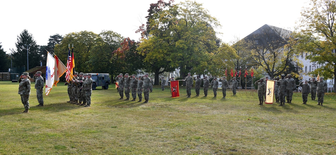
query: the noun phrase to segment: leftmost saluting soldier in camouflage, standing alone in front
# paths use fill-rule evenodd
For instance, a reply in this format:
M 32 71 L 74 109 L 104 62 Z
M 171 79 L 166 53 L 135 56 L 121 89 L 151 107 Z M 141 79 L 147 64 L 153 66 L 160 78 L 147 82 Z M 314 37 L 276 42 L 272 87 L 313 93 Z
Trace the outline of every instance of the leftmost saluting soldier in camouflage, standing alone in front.
M 28 112 L 29 109 L 29 95 L 30 95 L 30 77 L 27 72 L 22 73 L 19 78 L 19 91 L 18 94 L 21 96 L 21 102 L 25 106 L 25 111 Z

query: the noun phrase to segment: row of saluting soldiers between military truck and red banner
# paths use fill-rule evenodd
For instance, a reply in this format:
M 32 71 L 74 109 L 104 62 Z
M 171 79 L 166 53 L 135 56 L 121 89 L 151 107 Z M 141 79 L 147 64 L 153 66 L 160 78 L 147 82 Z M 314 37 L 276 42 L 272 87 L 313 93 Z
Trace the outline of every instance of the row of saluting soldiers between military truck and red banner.
M 135 78 L 135 74 L 132 76 L 129 76 L 128 73 L 123 76 L 122 73 L 120 73 L 115 80 L 118 82 L 118 92 L 120 95 L 119 99 L 124 99 L 124 90 L 125 90 L 125 100 L 129 100 L 129 93 L 131 90 L 133 99 L 131 101 L 136 100 L 136 95 L 139 97 L 138 102 L 142 102 L 142 91 L 144 96 L 144 103 L 148 103 L 149 100 L 149 93 L 153 90 L 153 80 L 151 80 L 150 77 L 148 77 L 148 73 L 145 73 L 143 76 L 138 76 Z

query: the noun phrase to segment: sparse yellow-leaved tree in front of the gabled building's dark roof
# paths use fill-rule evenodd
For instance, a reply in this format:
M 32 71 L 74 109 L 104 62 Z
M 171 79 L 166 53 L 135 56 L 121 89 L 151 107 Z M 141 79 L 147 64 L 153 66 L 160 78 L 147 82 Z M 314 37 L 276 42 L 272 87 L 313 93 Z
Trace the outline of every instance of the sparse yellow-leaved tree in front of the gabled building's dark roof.
M 291 34 L 291 31 L 265 24 L 244 38 L 252 60 L 259 66 L 256 72 L 274 78 L 288 69 L 290 60 L 300 64 L 295 57 L 297 50 L 293 45 L 296 42 Z

